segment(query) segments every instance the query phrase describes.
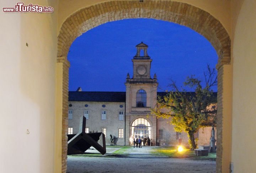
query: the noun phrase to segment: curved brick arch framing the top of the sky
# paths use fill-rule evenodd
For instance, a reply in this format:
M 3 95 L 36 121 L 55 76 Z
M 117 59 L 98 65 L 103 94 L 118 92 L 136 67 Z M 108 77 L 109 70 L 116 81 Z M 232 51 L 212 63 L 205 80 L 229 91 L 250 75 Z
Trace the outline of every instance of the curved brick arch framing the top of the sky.
M 109 1 L 86 7 L 70 15 L 58 36 L 58 57 L 66 57 L 73 41 L 103 23 L 128 18 L 154 18 L 174 22 L 198 32 L 215 48 L 221 64 L 230 63 L 230 38 L 222 24 L 198 7 L 174 1 Z

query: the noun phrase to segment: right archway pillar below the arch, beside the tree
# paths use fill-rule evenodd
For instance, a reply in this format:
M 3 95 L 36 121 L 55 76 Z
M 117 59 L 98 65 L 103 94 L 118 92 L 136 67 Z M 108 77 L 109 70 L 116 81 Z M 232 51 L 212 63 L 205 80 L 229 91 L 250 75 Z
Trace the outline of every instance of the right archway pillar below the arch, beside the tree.
M 232 65 L 218 64 L 216 172 L 229 172 L 232 135 Z

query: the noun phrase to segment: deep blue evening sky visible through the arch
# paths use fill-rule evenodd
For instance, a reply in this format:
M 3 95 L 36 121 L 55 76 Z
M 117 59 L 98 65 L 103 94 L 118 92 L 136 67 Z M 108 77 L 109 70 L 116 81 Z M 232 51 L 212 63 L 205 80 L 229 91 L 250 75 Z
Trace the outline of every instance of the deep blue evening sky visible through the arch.
M 124 82 L 133 76 L 135 45 L 149 46 L 151 77 L 158 91 L 170 90 L 170 78 L 182 86 L 187 76 L 204 81 L 207 64 L 215 68 L 218 56 L 206 38 L 192 29 L 154 19 L 108 22 L 82 34 L 70 47 L 69 91 L 126 91 Z M 216 72 L 217 73 L 217 72 Z M 213 88 L 217 91 L 217 87 Z

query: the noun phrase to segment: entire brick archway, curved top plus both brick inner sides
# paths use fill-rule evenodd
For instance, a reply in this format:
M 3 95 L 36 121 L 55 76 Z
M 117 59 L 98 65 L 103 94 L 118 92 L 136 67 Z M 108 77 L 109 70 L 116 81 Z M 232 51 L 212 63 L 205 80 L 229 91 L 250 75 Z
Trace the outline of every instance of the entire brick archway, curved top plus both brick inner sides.
M 224 65 L 230 63 L 230 37 L 222 24 L 210 13 L 195 6 L 174 1 L 144 2 L 108 1 L 86 7 L 70 15 L 58 35 L 57 63 L 62 64 L 62 172 L 66 172 L 68 133 L 68 70 L 67 55 L 73 41 L 82 33 L 103 23 L 127 18 L 154 18 L 174 22 L 198 32 L 218 54 L 218 112 L 217 112 L 217 172 L 222 172 L 223 150 L 223 75 Z M 231 146 L 231 144 L 230 144 Z

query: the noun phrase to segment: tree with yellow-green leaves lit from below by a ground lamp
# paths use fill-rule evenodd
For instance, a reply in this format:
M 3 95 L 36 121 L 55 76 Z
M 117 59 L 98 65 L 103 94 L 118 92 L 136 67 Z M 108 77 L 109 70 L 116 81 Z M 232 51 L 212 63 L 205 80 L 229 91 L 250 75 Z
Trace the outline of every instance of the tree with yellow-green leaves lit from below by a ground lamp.
M 175 82 L 170 86 L 172 91 L 166 92 L 162 98 L 158 98 L 157 106 L 151 109 L 151 114 L 157 118 L 171 118 L 170 124 L 175 125 L 177 132 L 185 131 L 188 135 L 190 148 L 196 148 L 194 133 L 205 126 L 216 126 L 217 94 L 211 89 L 217 85 L 215 70 L 207 66 L 204 72 L 206 86 L 203 88 L 201 81 L 194 75 L 187 77 L 185 87 L 194 89 L 187 92 L 185 89 L 179 91 Z

